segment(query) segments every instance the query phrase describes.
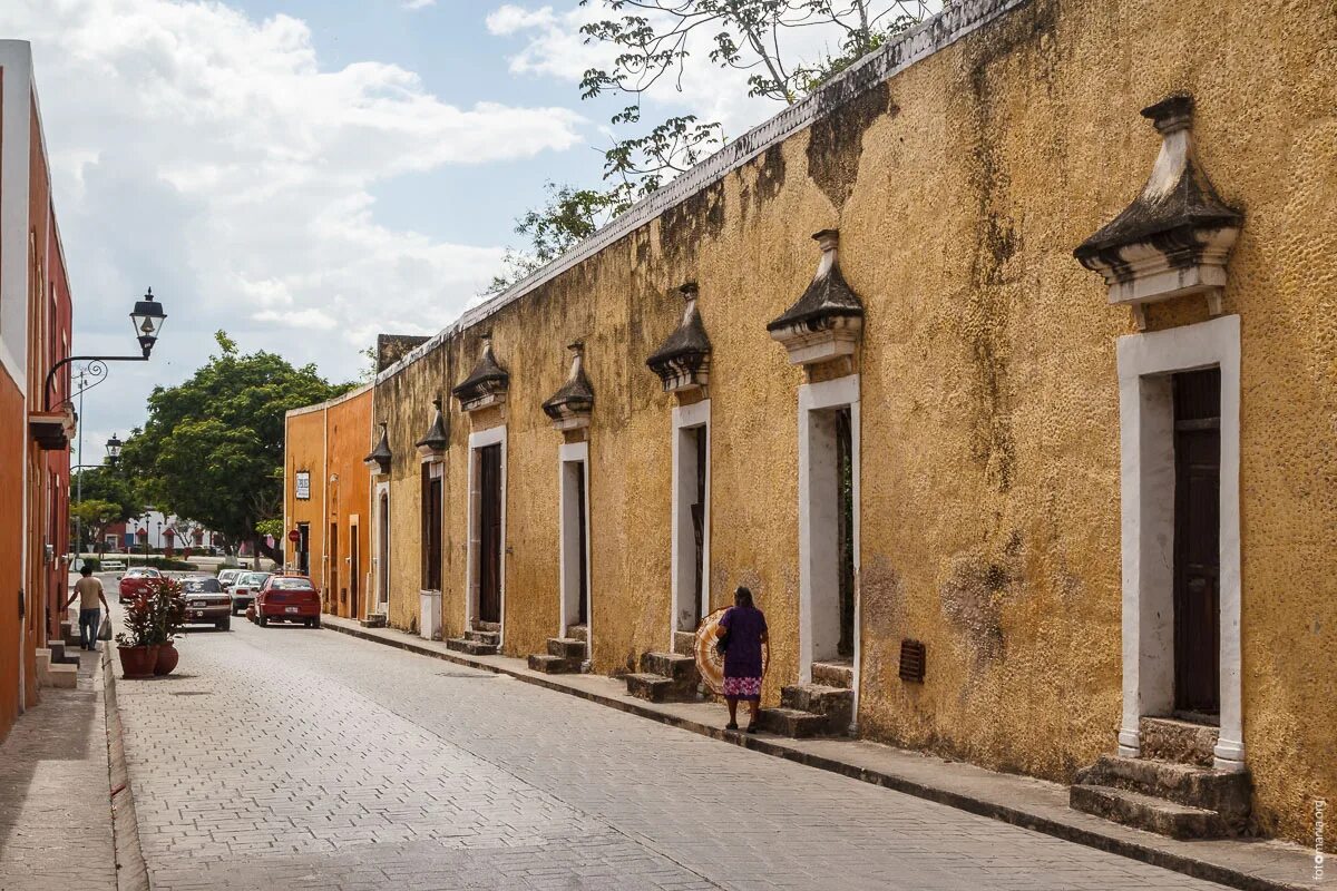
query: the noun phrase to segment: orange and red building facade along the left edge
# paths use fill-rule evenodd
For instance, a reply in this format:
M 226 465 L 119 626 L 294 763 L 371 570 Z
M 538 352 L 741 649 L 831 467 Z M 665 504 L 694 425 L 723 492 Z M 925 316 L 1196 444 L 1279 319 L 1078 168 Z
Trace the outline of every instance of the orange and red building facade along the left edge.
M 68 566 L 72 303 L 32 49 L 0 40 L 0 739 L 39 701 Z

